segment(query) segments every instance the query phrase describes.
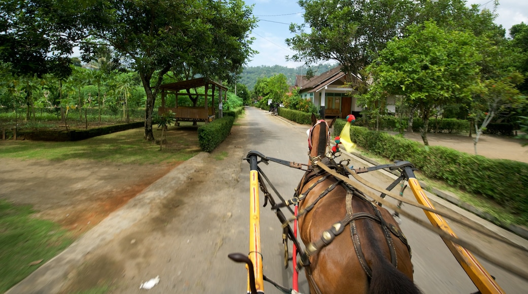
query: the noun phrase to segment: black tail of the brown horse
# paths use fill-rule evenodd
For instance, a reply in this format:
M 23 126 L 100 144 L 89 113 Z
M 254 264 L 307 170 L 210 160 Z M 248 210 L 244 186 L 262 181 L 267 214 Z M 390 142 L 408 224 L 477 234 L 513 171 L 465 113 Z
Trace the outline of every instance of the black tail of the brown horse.
M 376 263 L 372 267 L 370 294 L 421 294 L 414 282 L 388 260 L 380 256 Z

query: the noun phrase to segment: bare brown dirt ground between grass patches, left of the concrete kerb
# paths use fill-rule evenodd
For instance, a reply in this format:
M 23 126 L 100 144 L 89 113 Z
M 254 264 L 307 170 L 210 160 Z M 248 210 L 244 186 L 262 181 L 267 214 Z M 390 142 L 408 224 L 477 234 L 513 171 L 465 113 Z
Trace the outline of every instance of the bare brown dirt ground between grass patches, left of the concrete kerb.
M 176 165 L 2 159 L 0 199 L 80 236 Z

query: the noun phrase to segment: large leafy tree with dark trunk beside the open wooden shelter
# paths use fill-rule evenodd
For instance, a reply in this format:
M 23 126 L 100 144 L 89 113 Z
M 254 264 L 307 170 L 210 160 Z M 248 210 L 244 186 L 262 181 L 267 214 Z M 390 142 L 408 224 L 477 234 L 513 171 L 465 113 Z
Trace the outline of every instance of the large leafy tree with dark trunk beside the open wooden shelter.
M 183 74 L 192 68 L 193 74 L 228 79 L 253 53 L 248 33 L 256 20 L 240 0 L 113 0 L 101 9 L 92 19 L 91 33 L 128 58 L 139 73 L 147 96 L 148 141 L 154 140 L 154 103 L 168 71 Z

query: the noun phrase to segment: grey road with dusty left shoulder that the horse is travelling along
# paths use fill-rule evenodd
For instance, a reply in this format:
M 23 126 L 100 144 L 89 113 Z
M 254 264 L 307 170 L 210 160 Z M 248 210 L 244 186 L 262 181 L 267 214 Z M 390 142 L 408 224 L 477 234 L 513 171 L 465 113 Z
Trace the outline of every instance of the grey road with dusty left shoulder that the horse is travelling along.
M 257 150 L 306 163 L 306 129 L 306 125 L 268 112 L 247 109 L 228 141 L 218 149 L 201 153 L 169 172 L 10 293 L 71 293 L 97 285 L 109 285 L 112 293 L 143 293 L 140 283 L 158 275 L 161 281 L 150 293 L 245 292 L 246 269 L 227 258 L 228 253 L 247 253 L 249 248 L 249 164 L 242 159 L 249 150 Z M 357 159 L 351 164 L 366 165 Z M 303 174 L 274 163 L 261 164 L 261 168 L 284 197 L 293 195 Z M 365 178 L 382 187 L 392 182 L 382 172 L 366 174 Z M 425 219 L 423 212 L 405 208 Z M 528 241 L 475 219 L 528 248 Z M 406 219 L 402 221 L 413 251 L 415 281 L 423 292 L 476 291 L 438 236 Z M 459 236 L 483 250 L 528 270 L 524 253 L 453 227 Z M 289 285 L 291 267 L 282 269 L 280 224 L 269 208 L 261 208 L 261 239 L 265 274 Z M 507 293 L 526 293 L 528 281 L 483 264 Z M 304 272 L 300 277 L 300 291 L 307 293 Z M 269 284 L 265 287 L 266 293 L 280 293 Z

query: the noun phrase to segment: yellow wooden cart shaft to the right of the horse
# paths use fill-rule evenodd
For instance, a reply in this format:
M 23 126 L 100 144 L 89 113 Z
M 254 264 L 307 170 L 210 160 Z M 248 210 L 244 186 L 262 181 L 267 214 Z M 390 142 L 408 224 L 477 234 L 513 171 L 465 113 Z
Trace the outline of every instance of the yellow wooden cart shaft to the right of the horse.
M 423 192 L 418 180 L 414 178 L 409 178 L 409 187 L 411 187 L 412 193 L 416 200 L 422 205 L 425 205 L 429 208 L 433 208 L 429 198 Z M 423 211 L 427 215 L 427 218 L 431 224 L 437 228 L 440 228 L 444 232 L 450 234 L 453 237 L 456 237 L 455 233 L 451 230 L 447 222 L 440 215 L 430 212 Z M 489 275 L 489 273 L 484 269 L 484 267 L 477 261 L 477 259 L 470 253 L 467 249 L 460 247 L 459 245 L 445 240 L 447 247 L 451 250 L 451 253 L 455 256 L 460 266 L 464 268 L 469 278 L 473 281 L 475 286 L 483 294 L 495 294 L 495 293 L 504 293 L 504 291 L 497 285 L 495 280 Z

